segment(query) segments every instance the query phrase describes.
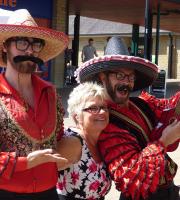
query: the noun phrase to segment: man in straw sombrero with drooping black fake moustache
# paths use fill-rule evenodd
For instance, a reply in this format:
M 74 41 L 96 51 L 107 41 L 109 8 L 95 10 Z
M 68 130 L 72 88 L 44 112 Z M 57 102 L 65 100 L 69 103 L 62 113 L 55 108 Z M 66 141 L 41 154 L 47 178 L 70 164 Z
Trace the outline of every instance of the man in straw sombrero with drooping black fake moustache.
M 57 200 L 57 166 L 67 163 L 55 152 L 64 110 L 54 86 L 33 73 L 68 38 L 37 26 L 26 9 L 9 13 L 0 24 L 0 199 Z

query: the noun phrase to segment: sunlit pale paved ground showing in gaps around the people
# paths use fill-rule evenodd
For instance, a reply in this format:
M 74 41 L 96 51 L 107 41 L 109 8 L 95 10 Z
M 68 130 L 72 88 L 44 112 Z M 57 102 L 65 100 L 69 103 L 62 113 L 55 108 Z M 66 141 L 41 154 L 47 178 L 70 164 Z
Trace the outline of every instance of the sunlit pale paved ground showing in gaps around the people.
M 65 126 L 71 126 L 73 125 L 73 122 L 69 118 L 64 118 L 64 124 Z M 178 172 L 175 177 L 175 184 L 180 185 L 180 146 L 176 151 L 169 153 L 169 155 L 179 166 Z M 113 184 L 110 192 L 106 195 L 105 200 L 118 200 L 119 195 L 120 193 L 115 189 L 115 186 Z

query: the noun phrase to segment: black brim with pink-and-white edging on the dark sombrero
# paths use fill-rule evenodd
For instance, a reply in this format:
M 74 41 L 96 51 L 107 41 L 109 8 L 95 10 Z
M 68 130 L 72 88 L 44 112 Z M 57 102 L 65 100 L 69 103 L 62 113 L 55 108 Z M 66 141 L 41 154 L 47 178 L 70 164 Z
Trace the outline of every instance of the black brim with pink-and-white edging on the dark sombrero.
M 91 59 L 76 71 L 80 83 L 92 81 L 96 74 L 105 71 L 118 71 L 121 68 L 134 69 L 136 81 L 134 91 L 150 86 L 158 76 L 158 67 L 149 60 L 126 55 L 106 55 Z

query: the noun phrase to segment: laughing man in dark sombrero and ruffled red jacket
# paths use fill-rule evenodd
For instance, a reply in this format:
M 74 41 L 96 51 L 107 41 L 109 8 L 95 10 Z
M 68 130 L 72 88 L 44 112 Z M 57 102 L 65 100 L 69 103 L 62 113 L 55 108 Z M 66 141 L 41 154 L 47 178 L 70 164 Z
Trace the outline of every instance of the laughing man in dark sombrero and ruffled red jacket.
M 80 83 L 103 84 L 109 96 L 110 123 L 100 135 L 98 147 L 121 191 L 120 199 L 178 199 L 173 183 L 177 165 L 166 152 L 179 144 L 180 122 L 174 110 L 180 93 L 170 99 L 156 99 L 146 92 L 130 97 L 131 91 L 152 84 L 158 67 L 146 59 L 129 56 L 118 37 L 109 40 L 105 56 L 87 61 L 76 75 Z M 172 123 L 168 125 L 167 121 Z

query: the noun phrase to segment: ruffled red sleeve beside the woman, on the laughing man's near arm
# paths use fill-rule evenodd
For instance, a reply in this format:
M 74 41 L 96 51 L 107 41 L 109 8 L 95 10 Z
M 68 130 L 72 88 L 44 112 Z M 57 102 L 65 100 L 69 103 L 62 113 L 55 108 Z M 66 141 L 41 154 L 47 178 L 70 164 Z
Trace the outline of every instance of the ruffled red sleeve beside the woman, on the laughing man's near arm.
M 165 149 L 160 142 L 149 143 L 141 150 L 133 135 L 109 124 L 99 137 L 98 147 L 122 193 L 138 199 L 157 189 L 165 169 Z

